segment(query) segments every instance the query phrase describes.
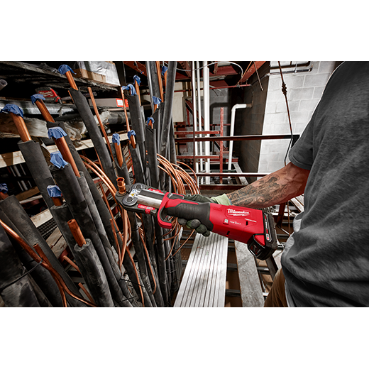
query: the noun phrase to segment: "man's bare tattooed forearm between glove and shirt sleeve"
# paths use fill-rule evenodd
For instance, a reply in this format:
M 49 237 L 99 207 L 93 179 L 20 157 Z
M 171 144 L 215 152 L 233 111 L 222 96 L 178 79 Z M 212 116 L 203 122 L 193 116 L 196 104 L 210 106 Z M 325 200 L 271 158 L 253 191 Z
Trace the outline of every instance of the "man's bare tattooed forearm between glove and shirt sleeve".
M 232 205 L 253 209 L 282 204 L 304 193 L 309 170 L 288 163 L 238 191 L 227 194 Z

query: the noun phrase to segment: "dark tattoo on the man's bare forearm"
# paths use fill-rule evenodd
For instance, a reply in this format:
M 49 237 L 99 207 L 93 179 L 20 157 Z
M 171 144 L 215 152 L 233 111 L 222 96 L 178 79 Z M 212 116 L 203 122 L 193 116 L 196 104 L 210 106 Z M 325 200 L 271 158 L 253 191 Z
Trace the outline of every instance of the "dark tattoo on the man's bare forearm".
M 281 184 L 280 176 L 272 173 L 238 191 L 227 194 L 233 205 L 263 208 L 280 204 L 286 196 L 287 184 Z

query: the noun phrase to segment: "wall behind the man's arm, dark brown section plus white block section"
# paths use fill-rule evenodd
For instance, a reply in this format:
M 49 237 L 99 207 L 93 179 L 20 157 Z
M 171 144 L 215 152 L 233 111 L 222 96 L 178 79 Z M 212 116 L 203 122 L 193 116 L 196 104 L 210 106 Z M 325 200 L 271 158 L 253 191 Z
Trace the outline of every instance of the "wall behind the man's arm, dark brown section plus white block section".
M 296 67 L 296 64 L 300 65 Z M 340 62 L 293 62 L 282 69 L 287 87 L 292 132 L 301 134 L 309 123 L 323 94 L 326 82 Z M 290 62 L 280 62 L 288 65 Z M 260 71 L 260 75 L 264 75 Z M 254 76 L 255 77 L 255 76 Z M 253 99 L 253 108 L 243 113 L 243 123 L 237 134 L 289 134 L 290 123 L 278 62 L 270 62 L 270 71 L 246 87 L 245 103 Z M 263 91 L 260 88 L 262 85 Z M 236 133 L 236 131 L 235 131 Z M 241 169 L 244 172 L 274 172 L 285 165 L 289 140 L 249 141 L 238 144 Z M 287 162 L 288 163 L 288 158 Z M 253 181 L 255 178 L 248 178 Z

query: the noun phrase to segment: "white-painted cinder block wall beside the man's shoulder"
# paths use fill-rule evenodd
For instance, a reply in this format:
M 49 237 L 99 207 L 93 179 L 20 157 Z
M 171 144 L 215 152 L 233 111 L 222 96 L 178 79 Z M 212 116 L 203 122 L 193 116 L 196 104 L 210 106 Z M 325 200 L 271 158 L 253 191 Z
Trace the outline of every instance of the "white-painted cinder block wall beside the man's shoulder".
M 289 62 L 280 62 L 281 65 Z M 287 87 L 287 101 L 290 109 L 292 132 L 301 134 L 309 123 L 314 109 L 323 94 L 324 87 L 331 73 L 339 62 L 312 62 L 309 72 L 288 74 L 283 71 L 283 79 Z M 268 94 L 265 101 L 265 116 L 263 121 L 263 135 L 289 134 L 290 123 L 287 115 L 285 95 L 282 93 L 282 79 L 278 62 L 270 62 L 271 74 L 268 83 Z M 310 66 L 311 67 L 311 66 Z M 307 70 L 310 67 L 299 67 L 297 70 Z M 276 74 L 273 74 L 277 72 Z M 274 172 L 285 165 L 285 156 L 290 140 L 264 140 L 260 145 L 258 172 Z M 288 163 L 288 157 L 286 163 Z

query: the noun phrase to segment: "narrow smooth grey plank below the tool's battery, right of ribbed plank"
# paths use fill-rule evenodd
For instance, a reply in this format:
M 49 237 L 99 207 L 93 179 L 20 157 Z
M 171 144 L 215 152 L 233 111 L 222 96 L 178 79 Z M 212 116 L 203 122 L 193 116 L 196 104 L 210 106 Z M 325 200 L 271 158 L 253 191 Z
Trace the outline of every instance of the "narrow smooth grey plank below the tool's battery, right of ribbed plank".
M 263 290 L 261 290 L 255 258 L 246 243 L 235 241 L 235 248 L 242 307 L 263 307 Z

